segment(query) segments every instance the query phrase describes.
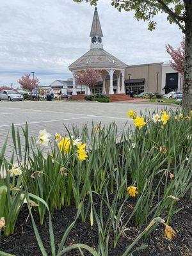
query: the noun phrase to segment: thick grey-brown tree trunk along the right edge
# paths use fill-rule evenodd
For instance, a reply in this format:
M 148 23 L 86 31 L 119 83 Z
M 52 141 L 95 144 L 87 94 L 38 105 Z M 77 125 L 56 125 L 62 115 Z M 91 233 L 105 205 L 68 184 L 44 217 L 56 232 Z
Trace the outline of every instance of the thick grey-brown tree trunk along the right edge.
M 192 0 L 186 0 L 186 48 L 182 108 L 192 109 Z

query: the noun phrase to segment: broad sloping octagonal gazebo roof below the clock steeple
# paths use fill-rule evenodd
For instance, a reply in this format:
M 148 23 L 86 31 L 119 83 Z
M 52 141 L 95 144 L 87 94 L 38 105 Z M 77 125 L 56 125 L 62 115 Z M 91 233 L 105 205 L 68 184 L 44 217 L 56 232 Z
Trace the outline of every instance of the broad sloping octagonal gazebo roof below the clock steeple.
M 126 68 L 127 64 L 118 60 L 115 56 L 104 49 L 91 49 L 81 56 L 78 60 L 74 61 L 68 68 L 70 71 L 77 71 L 84 68 Z

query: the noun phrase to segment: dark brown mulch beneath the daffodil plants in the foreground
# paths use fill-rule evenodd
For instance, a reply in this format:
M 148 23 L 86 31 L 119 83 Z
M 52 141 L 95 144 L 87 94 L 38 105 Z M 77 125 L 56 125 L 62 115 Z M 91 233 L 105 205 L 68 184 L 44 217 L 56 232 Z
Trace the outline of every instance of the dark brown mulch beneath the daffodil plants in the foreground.
M 132 199 L 134 201 L 134 199 Z M 134 202 L 127 202 L 127 211 L 129 211 L 130 204 Z M 96 202 L 95 207 L 99 211 L 100 202 Z M 175 214 L 172 218 L 170 225 L 173 227 L 177 233 L 177 237 L 173 241 L 168 241 L 164 238 L 164 226 L 159 225 L 153 232 L 147 237 L 147 239 L 141 239 L 136 247 L 141 246 L 141 244 L 146 244 L 148 247 L 145 250 L 137 251 L 132 253 L 132 256 L 191 256 L 192 255 L 192 204 L 189 198 L 184 198 L 178 203 L 178 207 L 184 207 L 180 212 Z M 63 207 L 61 211 L 54 211 L 52 214 L 52 224 L 54 227 L 55 243 L 58 244 L 61 241 L 63 233 L 67 227 L 74 221 L 76 217 L 76 207 L 70 205 L 68 207 Z M 105 216 L 108 216 L 108 209 L 103 207 L 103 212 Z M 25 205 L 19 214 L 15 226 L 15 233 L 12 236 L 4 237 L 1 236 L 0 250 L 6 253 L 12 253 L 17 256 L 38 256 L 42 255 L 38 244 L 36 242 L 35 233 L 33 231 L 33 225 L 31 223 L 31 218 L 28 218 L 28 207 Z M 47 250 L 47 254 L 51 255 L 50 243 L 49 243 L 49 220 L 48 216 L 45 216 L 44 225 L 40 225 L 38 215 L 33 211 L 33 216 L 35 218 L 36 225 L 42 237 L 42 241 Z M 28 221 L 26 221 L 28 218 Z M 146 227 L 146 225 L 145 225 Z M 116 248 L 113 248 L 113 236 L 109 241 L 109 256 L 119 255 L 121 256 L 127 246 L 132 243 L 132 241 L 142 232 L 145 228 L 134 227 L 133 220 L 129 223 L 129 227 L 123 234 L 123 236 L 118 241 Z M 67 237 L 65 246 L 74 243 L 84 243 L 97 249 L 98 236 L 97 236 L 97 223 L 94 221 L 93 227 L 90 225 L 90 220 L 82 222 L 81 217 L 76 221 L 76 225 Z M 134 249 L 136 249 L 134 247 Z M 65 253 L 65 256 L 79 256 L 81 253 L 77 250 Z M 84 255 L 90 255 L 90 253 L 84 252 Z

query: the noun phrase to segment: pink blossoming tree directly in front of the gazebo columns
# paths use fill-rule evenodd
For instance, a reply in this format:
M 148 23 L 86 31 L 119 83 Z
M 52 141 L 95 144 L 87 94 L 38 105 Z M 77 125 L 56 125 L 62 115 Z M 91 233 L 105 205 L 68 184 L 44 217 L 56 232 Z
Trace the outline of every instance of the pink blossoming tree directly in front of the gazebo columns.
M 92 93 L 92 89 L 95 87 L 95 84 L 99 82 L 101 77 L 99 70 L 94 70 L 92 68 L 88 68 L 86 70 L 82 70 L 76 73 L 76 79 L 79 84 L 83 84 L 90 88 Z

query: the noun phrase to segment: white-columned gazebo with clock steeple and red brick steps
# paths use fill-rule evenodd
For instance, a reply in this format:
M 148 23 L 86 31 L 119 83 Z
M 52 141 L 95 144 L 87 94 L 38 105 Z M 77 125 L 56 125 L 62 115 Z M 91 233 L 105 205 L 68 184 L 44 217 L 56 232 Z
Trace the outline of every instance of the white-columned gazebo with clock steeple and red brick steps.
M 109 54 L 109 52 L 104 51 L 102 37 L 103 34 L 100 26 L 99 15 L 97 8 L 95 7 L 92 30 L 90 33 L 90 51 L 86 52 L 68 67 L 73 74 L 72 95 L 77 95 L 75 78 L 76 72 L 87 68 L 93 68 L 95 70 L 101 70 L 102 72 L 102 83 L 100 83 L 102 84 L 102 93 L 108 94 L 111 99 L 129 100 L 130 97 L 125 95 L 124 84 L 125 68 L 127 65 L 123 61 L 118 60 L 118 58 L 112 54 Z M 89 88 L 86 88 L 86 94 L 90 94 Z M 114 94 L 118 94 L 116 95 L 118 97 L 115 97 Z M 82 99 L 80 95 L 77 96 L 79 96 L 79 99 Z M 78 99 L 78 97 L 74 98 Z

